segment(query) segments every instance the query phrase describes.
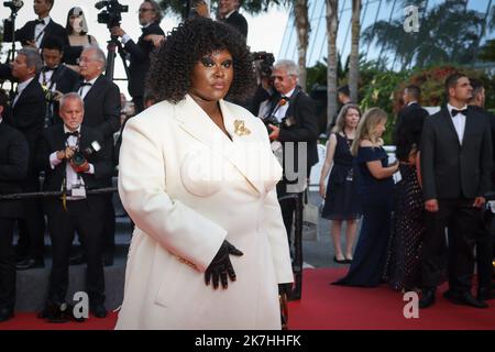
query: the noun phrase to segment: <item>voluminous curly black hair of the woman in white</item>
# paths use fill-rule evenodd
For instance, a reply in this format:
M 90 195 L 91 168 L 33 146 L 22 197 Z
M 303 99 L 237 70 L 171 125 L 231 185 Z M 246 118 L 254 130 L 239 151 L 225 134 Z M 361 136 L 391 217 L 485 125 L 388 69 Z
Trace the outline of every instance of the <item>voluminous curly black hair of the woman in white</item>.
M 233 59 L 234 77 L 228 98 L 249 98 L 255 88 L 255 72 L 244 36 L 228 24 L 205 18 L 188 20 L 167 34 L 152 55 L 146 89 L 156 101 L 183 100 L 190 88 L 194 66 L 205 55 L 219 50 L 228 50 Z

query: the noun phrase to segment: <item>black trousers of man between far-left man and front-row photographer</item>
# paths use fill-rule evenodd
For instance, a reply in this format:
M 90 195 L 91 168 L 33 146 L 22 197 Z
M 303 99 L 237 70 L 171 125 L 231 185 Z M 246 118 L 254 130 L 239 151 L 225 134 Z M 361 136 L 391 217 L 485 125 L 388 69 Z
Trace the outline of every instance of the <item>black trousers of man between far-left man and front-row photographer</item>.
M 40 179 L 30 177 L 22 190 L 24 193 L 40 191 Z M 25 199 L 22 201 L 25 210 L 25 218 L 19 220 L 19 242 L 18 254 L 33 258 L 43 258 L 45 218 L 41 199 Z

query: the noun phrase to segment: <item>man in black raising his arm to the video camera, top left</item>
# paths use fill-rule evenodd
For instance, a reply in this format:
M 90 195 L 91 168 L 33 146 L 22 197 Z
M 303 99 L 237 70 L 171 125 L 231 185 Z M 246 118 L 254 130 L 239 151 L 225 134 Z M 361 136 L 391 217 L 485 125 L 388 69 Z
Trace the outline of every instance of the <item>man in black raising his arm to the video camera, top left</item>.
M 130 54 L 129 65 L 129 94 L 134 102 L 135 112 L 140 113 L 144 110 L 144 80 L 150 70 L 150 54 L 154 46 L 152 41 L 146 41 L 145 37 L 150 34 L 165 35 L 160 28 L 162 21 L 162 11 L 156 1 L 145 0 L 140 6 L 140 25 L 142 25 L 142 34 L 135 43 L 129 34 L 127 34 L 120 26 L 111 29 L 113 35 L 122 37 L 122 43 L 125 51 Z

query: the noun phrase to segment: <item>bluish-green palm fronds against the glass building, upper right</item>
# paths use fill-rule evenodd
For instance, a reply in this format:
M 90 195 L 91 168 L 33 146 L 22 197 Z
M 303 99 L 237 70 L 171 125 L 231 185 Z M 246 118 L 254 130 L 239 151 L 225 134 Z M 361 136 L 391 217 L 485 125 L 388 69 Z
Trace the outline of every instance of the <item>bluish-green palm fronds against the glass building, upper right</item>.
M 417 33 L 405 33 L 402 19 L 378 21 L 363 32 L 363 41 L 395 53 L 402 68 L 413 63 L 419 67 L 441 62 L 469 64 L 474 59 L 482 24 L 480 12 L 468 10 L 464 0 L 451 0 L 425 11 Z

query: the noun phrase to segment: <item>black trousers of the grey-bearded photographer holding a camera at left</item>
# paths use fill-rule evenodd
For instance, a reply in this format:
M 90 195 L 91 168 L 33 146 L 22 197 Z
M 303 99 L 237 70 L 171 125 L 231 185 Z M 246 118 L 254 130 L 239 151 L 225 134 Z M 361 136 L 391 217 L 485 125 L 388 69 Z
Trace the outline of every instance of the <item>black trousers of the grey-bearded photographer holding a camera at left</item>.
M 86 200 L 67 200 L 67 210 L 57 199 L 48 213 L 48 228 L 53 246 L 53 267 L 50 279 L 48 299 L 65 301 L 68 287 L 68 266 L 74 231 L 84 242 L 88 268 L 86 290 L 90 304 L 105 301 L 105 274 L 101 260 L 103 199 L 88 196 Z

